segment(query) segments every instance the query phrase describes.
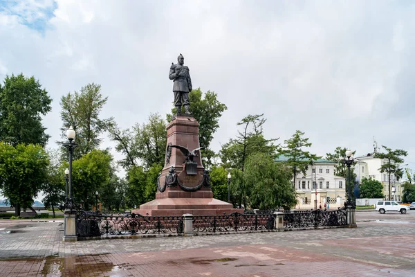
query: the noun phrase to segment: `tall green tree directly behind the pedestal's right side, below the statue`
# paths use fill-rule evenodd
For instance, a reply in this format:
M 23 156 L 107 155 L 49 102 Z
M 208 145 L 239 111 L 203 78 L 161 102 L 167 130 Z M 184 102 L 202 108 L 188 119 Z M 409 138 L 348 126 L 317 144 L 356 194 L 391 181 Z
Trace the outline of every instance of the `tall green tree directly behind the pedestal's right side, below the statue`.
M 207 91 L 203 97 L 200 88 L 190 91 L 189 100 L 190 111 L 199 122 L 199 144 L 204 148 L 201 150 L 203 164 L 209 167 L 214 156 L 214 152 L 210 150 L 210 143 L 214 132 L 219 128 L 219 118 L 228 107 L 217 99 L 217 94 L 213 91 Z M 169 122 L 172 121 L 174 114 L 176 108 L 172 108 L 172 114 L 167 114 Z

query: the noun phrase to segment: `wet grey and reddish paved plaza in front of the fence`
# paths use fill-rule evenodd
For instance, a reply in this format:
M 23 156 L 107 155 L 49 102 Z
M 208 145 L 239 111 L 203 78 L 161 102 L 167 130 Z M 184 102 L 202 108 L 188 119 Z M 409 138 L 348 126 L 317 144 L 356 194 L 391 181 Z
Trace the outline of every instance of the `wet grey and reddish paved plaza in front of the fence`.
M 415 211 L 356 229 L 62 242 L 62 222 L 0 221 L 0 276 L 415 276 Z

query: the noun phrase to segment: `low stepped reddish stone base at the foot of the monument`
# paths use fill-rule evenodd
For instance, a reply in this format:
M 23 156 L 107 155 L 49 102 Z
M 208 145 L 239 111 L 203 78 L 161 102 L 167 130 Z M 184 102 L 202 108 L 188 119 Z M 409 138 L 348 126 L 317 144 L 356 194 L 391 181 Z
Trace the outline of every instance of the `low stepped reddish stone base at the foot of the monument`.
M 242 208 L 232 208 L 232 204 L 214 198 L 163 198 L 154 199 L 140 205 L 131 213 L 151 216 L 181 216 L 190 213 L 197 215 L 227 215 L 243 213 Z

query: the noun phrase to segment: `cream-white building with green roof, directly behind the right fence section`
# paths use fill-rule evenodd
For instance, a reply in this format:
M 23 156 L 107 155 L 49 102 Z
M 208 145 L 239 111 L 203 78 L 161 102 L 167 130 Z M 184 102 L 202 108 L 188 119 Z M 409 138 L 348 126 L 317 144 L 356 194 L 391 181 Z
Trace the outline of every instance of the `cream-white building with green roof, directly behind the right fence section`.
M 277 161 L 287 161 L 286 157 L 280 156 Z M 295 192 L 297 193 L 297 206 L 295 208 L 311 209 L 324 204 L 329 209 L 344 206 L 346 180 L 343 177 L 334 175 L 335 162 L 325 159 L 313 161 L 309 166 L 306 175 L 299 173 L 295 177 Z

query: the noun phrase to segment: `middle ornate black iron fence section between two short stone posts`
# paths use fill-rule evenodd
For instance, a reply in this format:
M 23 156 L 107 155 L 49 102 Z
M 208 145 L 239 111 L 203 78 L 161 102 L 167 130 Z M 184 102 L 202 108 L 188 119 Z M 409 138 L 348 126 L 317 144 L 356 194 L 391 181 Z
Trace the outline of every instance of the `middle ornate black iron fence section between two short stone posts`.
M 275 215 L 202 215 L 193 217 L 194 233 L 216 233 L 229 231 L 259 231 L 275 229 Z

